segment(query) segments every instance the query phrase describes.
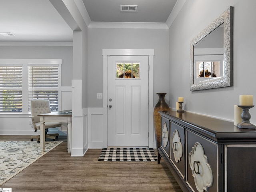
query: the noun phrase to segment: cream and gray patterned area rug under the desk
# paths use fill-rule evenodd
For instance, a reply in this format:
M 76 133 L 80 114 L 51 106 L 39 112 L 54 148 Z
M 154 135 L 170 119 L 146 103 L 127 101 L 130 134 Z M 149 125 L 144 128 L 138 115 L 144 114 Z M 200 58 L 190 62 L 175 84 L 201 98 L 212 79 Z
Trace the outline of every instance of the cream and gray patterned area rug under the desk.
M 37 141 L 0 141 L 0 186 L 62 141 L 46 141 L 44 153 Z

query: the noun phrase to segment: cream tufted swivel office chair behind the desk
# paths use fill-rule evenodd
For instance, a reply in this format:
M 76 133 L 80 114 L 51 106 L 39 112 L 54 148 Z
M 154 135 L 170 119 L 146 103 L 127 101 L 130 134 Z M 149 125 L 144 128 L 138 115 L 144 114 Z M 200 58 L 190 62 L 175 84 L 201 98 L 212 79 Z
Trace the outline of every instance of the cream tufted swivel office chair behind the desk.
M 40 129 L 40 117 L 38 115 L 50 113 L 50 101 L 43 99 L 31 100 L 31 116 L 29 116 L 32 120 L 32 128 L 34 128 L 35 132 Z M 48 128 L 56 128 L 60 127 L 61 123 L 59 122 L 45 122 L 45 138 L 50 138 L 55 141 L 55 138 L 58 138 L 59 134 L 47 134 Z M 37 142 L 40 143 L 40 135 L 31 136 L 31 141 L 33 139 L 37 139 Z

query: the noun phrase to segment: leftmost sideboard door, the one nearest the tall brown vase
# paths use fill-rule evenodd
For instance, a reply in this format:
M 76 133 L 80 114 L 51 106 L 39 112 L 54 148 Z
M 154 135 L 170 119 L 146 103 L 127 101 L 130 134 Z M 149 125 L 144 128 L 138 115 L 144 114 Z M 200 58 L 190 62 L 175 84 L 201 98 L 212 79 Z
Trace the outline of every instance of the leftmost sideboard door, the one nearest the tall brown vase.
M 170 122 L 161 117 L 161 148 L 170 157 Z

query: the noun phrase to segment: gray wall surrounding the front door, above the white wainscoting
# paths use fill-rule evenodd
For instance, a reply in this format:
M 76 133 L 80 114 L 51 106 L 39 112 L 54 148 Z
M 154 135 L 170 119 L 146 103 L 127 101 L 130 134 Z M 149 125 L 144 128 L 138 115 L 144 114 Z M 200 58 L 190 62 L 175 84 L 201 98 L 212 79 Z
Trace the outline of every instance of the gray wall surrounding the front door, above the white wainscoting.
M 96 99 L 103 92 L 102 49 L 154 49 L 154 93 L 168 92 L 168 29 L 88 28 L 88 107 L 103 106 Z

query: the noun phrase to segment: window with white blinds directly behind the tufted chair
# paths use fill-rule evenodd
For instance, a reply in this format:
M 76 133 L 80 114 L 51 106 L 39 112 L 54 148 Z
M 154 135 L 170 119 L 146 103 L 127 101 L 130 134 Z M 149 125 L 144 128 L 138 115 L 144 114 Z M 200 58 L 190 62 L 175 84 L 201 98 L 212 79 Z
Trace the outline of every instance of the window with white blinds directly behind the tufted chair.
M 51 111 L 58 111 L 58 66 L 28 66 L 28 111 L 30 101 L 46 99 Z

